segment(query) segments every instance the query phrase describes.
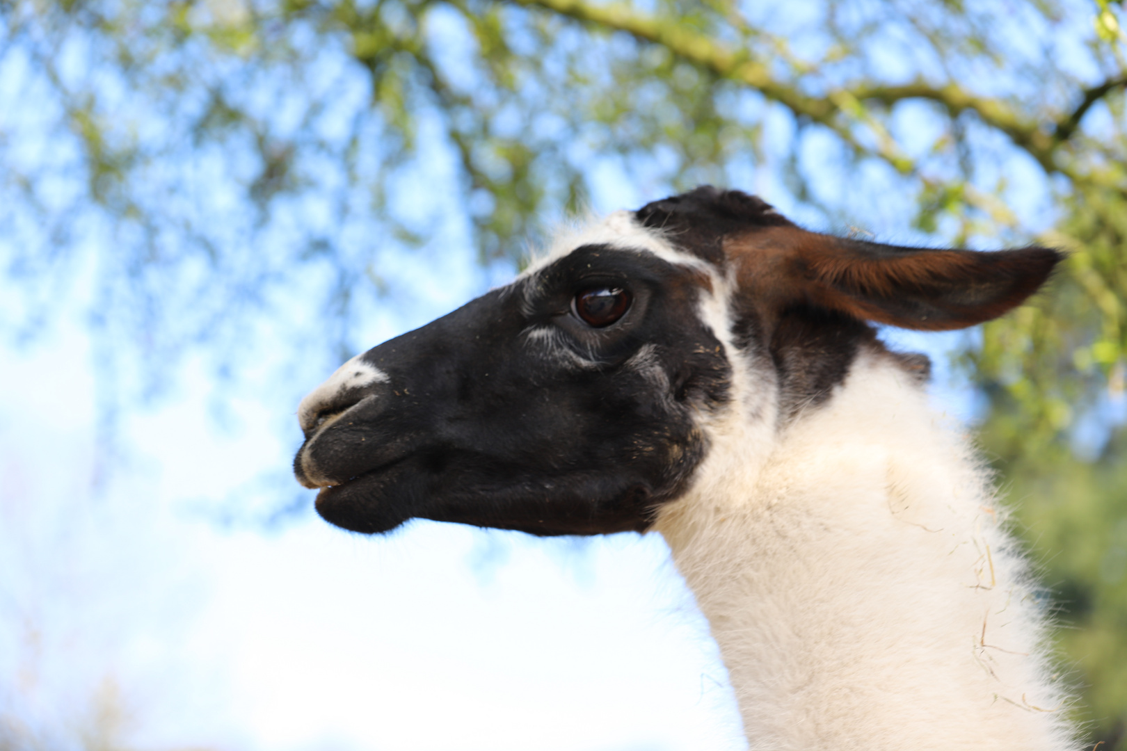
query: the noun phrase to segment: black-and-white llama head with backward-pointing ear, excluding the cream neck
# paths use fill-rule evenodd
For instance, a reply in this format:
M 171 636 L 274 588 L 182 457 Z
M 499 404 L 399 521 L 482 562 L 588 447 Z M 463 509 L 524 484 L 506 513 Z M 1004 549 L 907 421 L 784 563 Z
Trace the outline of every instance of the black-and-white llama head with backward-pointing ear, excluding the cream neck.
M 294 472 L 356 531 L 416 517 L 645 530 L 716 430 L 775 430 L 880 349 L 868 321 L 973 325 L 1058 260 L 838 239 L 698 188 L 565 238 L 511 285 L 346 363 L 302 401 Z

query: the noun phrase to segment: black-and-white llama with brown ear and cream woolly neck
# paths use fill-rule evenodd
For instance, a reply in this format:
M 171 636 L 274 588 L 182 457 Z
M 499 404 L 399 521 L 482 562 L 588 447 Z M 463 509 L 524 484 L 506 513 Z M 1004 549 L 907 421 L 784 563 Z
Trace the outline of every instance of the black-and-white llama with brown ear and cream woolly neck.
M 294 472 L 361 533 L 660 533 L 752 749 L 1075 749 L 988 475 L 928 359 L 870 323 L 970 327 L 1059 260 L 841 239 L 698 188 L 346 363 L 301 403 Z

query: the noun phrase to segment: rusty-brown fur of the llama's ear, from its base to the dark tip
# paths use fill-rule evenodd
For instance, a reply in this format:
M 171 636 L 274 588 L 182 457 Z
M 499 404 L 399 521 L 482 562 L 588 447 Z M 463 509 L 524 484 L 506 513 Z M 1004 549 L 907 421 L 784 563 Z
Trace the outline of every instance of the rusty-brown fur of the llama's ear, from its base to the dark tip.
M 1020 305 L 1063 256 L 1030 247 L 979 252 L 882 245 L 757 227 L 724 243 L 745 299 L 766 327 L 788 309 L 816 306 L 905 329 L 946 331 Z

